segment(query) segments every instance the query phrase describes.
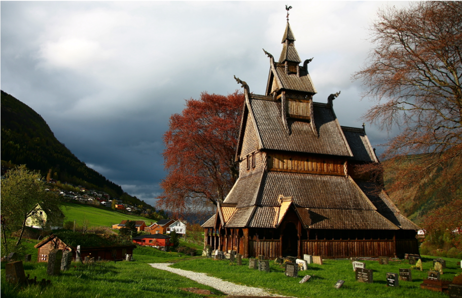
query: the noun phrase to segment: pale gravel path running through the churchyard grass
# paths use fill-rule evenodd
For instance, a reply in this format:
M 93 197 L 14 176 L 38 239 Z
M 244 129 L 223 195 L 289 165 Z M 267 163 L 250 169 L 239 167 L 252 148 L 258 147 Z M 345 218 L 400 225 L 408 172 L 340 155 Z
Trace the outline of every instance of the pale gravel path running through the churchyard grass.
M 179 275 L 185 276 L 189 279 L 192 279 L 194 281 L 197 281 L 198 283 L 201 283 L 203 285 L 207 285 L 209 287 L 212 287 L 214 289 L 217 289 L 225 294 L 228 295 L 236 295 L 236 296 L 278 296 L 278 297 L 284 297 L 281 295 L 274 295 L 269 292 L 264 291 L 263 289 L 260 288 L 253 288 L 253 287 L 248 287 L 248 286 L 241 286 L 234 284 L 229 281 L 224 281 L 216 277 L 208 276 L 205 273 L 199 273 L 199 272 L 194 272 L 194 271 L 188 271 L 188 270 L 183 270 L 183 269 L 177 269 L 177 268 L 171 268 L 169 267 L 170 263 L 155 263 L 155 264 L 149 264 L 154 268 L 161 269 L 161 270 L 167 270 L 173 273 L 177 273 Z

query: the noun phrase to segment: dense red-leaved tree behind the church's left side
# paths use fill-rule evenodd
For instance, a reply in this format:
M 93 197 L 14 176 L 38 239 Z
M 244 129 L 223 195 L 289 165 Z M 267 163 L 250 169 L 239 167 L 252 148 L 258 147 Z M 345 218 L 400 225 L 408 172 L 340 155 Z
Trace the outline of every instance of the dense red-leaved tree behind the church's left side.
M 164 134 L 164 166 L 158 206 L 174 216 L 197 212 L 221 202 L 238 178 L 234 155 L 244 95 L 203 92 L 186 100 L 181 114 L 170 117 Z

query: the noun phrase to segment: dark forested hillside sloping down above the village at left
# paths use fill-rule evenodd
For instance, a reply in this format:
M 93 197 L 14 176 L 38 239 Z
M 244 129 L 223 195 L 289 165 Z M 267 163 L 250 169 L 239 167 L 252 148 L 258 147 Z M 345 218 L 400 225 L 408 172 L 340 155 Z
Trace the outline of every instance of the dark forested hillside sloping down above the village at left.
M 122 187 L 88 168 L 54 136 L 45 120 L 33 109 L 0 90 L 0 160 L 40 171 L 42 176 L 94 188 L 112 197 L 147 206 L 128 196 Z

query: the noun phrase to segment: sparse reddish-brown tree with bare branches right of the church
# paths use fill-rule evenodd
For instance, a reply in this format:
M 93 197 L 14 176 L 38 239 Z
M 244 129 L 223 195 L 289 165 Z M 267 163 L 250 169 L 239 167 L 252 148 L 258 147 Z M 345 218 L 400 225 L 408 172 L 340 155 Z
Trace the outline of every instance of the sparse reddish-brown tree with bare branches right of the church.
M 430 187 L 442 194 L 438 205 L 451 207 L 440 221 L 449 229 L 461 226 L 462 1 L 411 2 L 380 10 L 378 17 L 375 48 L 354 77 L 376 101 L 364 118 L 389 131 L 399 128 L 383 154 L 394 165 L 388 190 L 406 200 L 436 177 Z M 424 225 L 431 229 L 442 214 L 427 214 Z

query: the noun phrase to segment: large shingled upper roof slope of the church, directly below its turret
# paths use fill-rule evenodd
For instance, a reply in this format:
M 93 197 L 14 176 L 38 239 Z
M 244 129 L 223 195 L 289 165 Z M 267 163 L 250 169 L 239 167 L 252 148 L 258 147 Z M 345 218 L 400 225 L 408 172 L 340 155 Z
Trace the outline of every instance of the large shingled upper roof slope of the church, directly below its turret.
M 314 121 L 319 137 L 310 123 L 287 119 L 288 135 L 281 118 L 281 102 L 249 97 L 249 110 L 254 112 L 257 132 L 264 149 L 352 156 L 343 132 L 328 105 L 315 104 Z

